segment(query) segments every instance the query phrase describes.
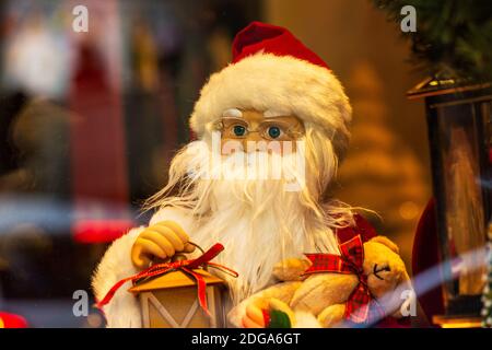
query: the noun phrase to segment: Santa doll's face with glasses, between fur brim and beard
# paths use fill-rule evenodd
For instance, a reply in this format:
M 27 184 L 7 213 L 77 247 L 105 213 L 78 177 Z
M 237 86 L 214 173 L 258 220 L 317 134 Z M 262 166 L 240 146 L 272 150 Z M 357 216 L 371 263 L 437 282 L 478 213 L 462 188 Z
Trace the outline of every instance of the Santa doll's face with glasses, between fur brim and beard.
M 291 143 L 295 149 L 295 141 L 304 136 L 304 125 L 295 116 L 268 116 L 263 113 L 232 108 L 224 110 L 216 125 L 221 131 L 222 142 L 241 142 L 243 150 L 251 152 L 268 148 L 274 150 L 277 145 Z

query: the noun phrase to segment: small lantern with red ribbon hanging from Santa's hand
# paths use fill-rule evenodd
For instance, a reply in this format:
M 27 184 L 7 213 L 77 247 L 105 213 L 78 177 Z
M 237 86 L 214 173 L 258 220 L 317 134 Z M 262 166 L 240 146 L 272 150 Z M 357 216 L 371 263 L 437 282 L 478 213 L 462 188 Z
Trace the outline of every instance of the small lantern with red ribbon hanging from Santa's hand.
M 107 305 L 121 285 L 132 281 L 133 287 L 129 292 L 140 296 L 143 327 L 226 327 L 225 308 L 231 303 L 229 293 L 224 293 L 226 283 L 209 273 L 207 268 L 213 267 L 232 277 L 237 277 L 238 273 L 210 261 L 224 249 L 222 244 L 215 243 L 203 252 L 197 244 L 188 243 L 202 254 L 196 259 L 175 254 L 171 261 L 154 264 L 137 275 L 119 280 L 97 302 L 96 307 Z

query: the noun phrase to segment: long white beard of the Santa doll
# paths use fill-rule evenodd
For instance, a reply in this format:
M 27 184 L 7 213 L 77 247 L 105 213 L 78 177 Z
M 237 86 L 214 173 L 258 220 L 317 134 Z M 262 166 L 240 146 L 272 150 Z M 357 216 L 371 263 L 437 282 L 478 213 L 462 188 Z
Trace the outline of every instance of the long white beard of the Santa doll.
M 282 259 L 302 257 L 304 253 L 338 253 L 333 231 L 319 213 L 316 219 L 316 199 L 312 194 L 306 188 L 303 191 L 285 190 L 294 174 L 300 174 L 295 168 L 295 155 L 260 155 L 268 158 L 268 164 L 279 164 L 276 163 L 279 158 L 283 159 L 281 178 L 241 178 L 238 174 L 248 171 L 251 174 L 251 167 L 258 164 L 251 162 L 251 156 L 257 155 L 235 153 L 222 156 L 222 160 L 234 159 L 234 162 L 210 165 L 212 151 L 204 142 L 192 142 L 176 156 L 169 179 L 173 180 L 173 174 L 176 179 L 183 179 L 185 171 L 189 177 L 192 167 L 195 177 L 185 184 L 185 187 L 190 186 L 185 194 L 161 202 L 192 210 L 197 217 L 196 231 L 190 238 L 194 243 L 203 249 L 215 243 L 224 246 L 213 261 L 238 272 L 237 278 L 218 272 L 227 281 L 234 305 L 269 285 L 273 281 L 272 268 Z M 245 162 L 241 161 L 242 156 Z M 213 178 L 218 174 L 238 177 Z M 212 178 L 203 179 L 203 175 L 212 175 Z

